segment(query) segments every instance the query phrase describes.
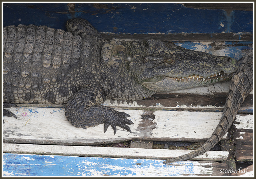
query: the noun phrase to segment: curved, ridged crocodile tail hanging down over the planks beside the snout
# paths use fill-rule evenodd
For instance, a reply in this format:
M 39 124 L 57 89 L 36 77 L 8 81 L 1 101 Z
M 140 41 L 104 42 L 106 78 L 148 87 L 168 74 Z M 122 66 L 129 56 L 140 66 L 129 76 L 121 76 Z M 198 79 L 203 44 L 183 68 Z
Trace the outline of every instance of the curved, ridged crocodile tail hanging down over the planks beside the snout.
M 243 57 L 240 59 L 238 71 L 232 78 L 222 117 L 212 136 L 200 148 L 188 154 L 167 159 L 164 163 L 169 164 L 175 161 L 192 159 L 212 149 L 226 134 L 246 96 L 252 91 L 252 77 L 252 57 Z

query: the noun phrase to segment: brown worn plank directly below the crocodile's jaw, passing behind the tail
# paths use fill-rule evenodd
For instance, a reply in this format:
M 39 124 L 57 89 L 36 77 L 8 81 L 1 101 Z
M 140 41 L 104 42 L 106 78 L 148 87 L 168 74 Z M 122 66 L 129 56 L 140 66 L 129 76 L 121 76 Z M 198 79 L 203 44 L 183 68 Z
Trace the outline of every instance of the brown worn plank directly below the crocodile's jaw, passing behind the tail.
M 225 102 L 226 95 L 155 94 L 140 101 L 107 99 L 103 105 L 119 109 L 222 112 Z M 253 112 L 251 94 L 246 98 L 238 112 Z

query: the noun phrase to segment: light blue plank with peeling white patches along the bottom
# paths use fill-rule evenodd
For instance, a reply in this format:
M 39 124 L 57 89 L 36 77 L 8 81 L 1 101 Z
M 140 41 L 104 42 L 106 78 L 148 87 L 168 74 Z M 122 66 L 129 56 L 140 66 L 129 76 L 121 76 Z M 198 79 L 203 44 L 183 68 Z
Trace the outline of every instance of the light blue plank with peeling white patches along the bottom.
M 4 153 L 3 175 L 12 176 L 179 176 L 228 175 L 224 163 L 164 160 L 72 157 Z

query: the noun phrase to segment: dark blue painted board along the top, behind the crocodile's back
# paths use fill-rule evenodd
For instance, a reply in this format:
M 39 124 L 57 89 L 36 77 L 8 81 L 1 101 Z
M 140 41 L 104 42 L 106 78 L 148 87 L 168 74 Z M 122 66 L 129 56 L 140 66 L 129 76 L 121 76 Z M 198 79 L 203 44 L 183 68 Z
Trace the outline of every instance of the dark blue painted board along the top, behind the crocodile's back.
M 66 30 L 87 19 L 109 33 L 252 33 L 252 11 L 186 8 L 182 4 L 4 4 L 4 26 L 45 25 Z

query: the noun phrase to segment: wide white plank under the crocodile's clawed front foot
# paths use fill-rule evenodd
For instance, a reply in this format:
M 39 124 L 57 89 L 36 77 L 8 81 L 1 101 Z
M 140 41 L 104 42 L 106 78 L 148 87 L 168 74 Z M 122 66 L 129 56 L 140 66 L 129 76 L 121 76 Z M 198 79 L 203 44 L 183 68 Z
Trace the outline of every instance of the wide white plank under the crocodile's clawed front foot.
M 221 112 L 155 111 L 153 118 L 143 118 L 148 111 L 118 110 L 130 114 L 132 133 L 117 127 L 116 135 L 103 124 L 94 128 L 76 128 L 68 122 L 63 108 L 10 108 L 18 117 L 4 117 L 4 140 L 14 143 L 90 145 L 124 140 L 205 141 L 216 128 Z M 27 116 L 22 116 L 27 112 Z

